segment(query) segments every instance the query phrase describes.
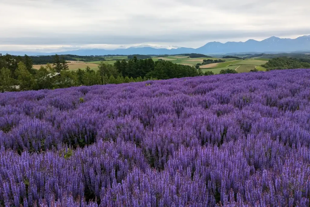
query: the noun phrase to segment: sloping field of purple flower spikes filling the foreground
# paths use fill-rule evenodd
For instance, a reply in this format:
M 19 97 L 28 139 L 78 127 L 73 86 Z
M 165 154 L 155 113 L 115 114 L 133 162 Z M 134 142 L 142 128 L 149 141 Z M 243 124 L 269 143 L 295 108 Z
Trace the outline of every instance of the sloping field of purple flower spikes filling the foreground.
M 0 94 L 0 206 L 309 206 L 310 70 Z

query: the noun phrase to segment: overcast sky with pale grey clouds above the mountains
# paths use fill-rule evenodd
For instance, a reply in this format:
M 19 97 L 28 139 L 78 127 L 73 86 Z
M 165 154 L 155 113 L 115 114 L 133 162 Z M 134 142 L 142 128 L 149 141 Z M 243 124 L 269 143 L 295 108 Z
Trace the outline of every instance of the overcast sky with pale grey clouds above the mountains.
M 310 34 L 308 0 L 0 0 L 0 51 L 200 47 Z

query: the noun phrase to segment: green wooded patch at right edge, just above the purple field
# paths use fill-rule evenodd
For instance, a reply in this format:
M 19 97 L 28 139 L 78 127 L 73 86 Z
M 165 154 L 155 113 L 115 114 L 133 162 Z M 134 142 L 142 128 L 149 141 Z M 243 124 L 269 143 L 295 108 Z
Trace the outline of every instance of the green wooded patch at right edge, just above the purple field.
M 267 63 L 262 65 L 267 70 L 282 70 L 282 69 L 297 69 L 310 68 L 308 59 L 296 59 L 291 57 L 272 58 Z

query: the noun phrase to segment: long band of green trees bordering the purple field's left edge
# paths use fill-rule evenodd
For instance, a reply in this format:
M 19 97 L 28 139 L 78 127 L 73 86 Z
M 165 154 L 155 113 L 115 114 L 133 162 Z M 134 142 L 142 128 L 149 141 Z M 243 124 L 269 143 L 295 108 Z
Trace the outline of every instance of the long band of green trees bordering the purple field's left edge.
M 17 58 L 17 59 L 16 59 Z M 66 61 L 55 55 L 52 65 L 41 66 L 39 70 L 32 67 L 29 56 L 17 57 L 0 54 L 0 91 L 24 91 L 68 88 L 80 85 L 96 85 L 108 83 L 129 83 L 154 79 L 170 79 L 203 75 L 201 70 L 186 65 L 174 64 L 170 61 L 152 59 L 138 60 L 137 57 L 117 61 L 114 65 L 98 65 L 98 70 L 68 70 Z

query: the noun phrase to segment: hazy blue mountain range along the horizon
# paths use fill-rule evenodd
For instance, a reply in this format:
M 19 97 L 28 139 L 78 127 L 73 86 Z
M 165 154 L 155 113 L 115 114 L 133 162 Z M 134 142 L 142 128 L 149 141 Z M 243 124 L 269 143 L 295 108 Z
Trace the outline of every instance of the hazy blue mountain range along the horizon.
M 199 48 L 187 48 L 179 47 L 176 49 L 164 49 L 164 48 L 153 48 L 153 47 L 129 47 L 126 49 L 80 49 L 67 52 L 57 52 L 57 54 L 72 54 L 72 55 L 174 55 L 183 53 L 201 53 L 201 54 L 227 54 L 227 53 L 238 53 L 238 52 L 307 52 L 310 51 L 310 35 L 298 37 L 296 39 L 290 38 L 278 38 L 270 37 L 262 41 L 256 41 L 249 39 L 246 42 L 210 42 Z M 39 53 L 39 52 L 10 52 L 3 51 L 2 54 L 12 55 L 52 55 L 55 53 Z

